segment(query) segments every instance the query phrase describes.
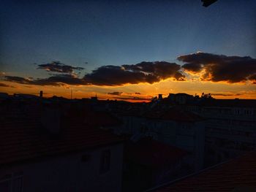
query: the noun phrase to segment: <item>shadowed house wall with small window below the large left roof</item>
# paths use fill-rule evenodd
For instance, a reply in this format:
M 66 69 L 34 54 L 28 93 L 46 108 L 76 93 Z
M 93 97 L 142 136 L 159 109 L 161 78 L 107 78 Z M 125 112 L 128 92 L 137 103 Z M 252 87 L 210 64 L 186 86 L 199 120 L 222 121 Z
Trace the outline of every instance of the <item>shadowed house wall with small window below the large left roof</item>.
M 111 151 L 110 170 L 99 173 L 102 150 Z M 23 171 L 24 192 L 121 191 L 123 145 L 111 145 L 44 161 L 0 169 L 0 177 Z M 81 156 L 89 154 L 88 161 Z

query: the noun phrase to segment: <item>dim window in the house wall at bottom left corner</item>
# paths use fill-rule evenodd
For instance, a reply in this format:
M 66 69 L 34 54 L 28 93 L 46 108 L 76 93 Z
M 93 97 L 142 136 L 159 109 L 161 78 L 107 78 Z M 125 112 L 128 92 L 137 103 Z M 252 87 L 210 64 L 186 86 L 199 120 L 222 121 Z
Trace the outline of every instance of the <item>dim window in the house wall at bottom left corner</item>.
M 23 172 L 6 174 L 0 178 L 0 191 L 3 192 L 22 192 L 23 191 Z

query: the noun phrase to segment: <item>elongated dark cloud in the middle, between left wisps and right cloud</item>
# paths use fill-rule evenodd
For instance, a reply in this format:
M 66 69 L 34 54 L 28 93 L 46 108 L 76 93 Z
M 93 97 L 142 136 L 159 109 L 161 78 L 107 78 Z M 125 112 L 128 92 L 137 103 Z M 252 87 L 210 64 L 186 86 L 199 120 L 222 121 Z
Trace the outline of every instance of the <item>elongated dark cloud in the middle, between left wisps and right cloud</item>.
M 173 77 L 174 80 L 184 80 L 180 72 L 181 66 L 165 61 L 141 62 L 135 65 L 100 66 L 98 69 L 86 74 L 83 79 L 91 85 L 124 85 L 127 83 L 150 84 Z

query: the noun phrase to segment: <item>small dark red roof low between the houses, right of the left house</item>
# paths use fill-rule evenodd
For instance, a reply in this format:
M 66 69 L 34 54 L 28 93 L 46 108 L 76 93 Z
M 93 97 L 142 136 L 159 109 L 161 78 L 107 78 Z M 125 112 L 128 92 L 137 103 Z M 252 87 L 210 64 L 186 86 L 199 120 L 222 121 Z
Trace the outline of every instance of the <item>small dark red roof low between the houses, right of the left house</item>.
M 178 147 L 146 138 L 135 143 L 127 143 L 124 151 L 127 155 L 126 159 L 146 166 L 162 166 L 163 164 L 175 163 L 188 154 L 187 151 Z

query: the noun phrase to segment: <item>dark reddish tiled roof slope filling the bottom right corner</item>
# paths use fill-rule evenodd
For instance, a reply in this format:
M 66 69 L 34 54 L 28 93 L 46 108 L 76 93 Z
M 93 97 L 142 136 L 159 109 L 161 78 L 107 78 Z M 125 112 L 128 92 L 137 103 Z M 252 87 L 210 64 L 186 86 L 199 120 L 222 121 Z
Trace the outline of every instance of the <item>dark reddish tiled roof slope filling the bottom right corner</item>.
M 256 191 L 255 151 L 153 191 L 246 191 L 252 188 Z

